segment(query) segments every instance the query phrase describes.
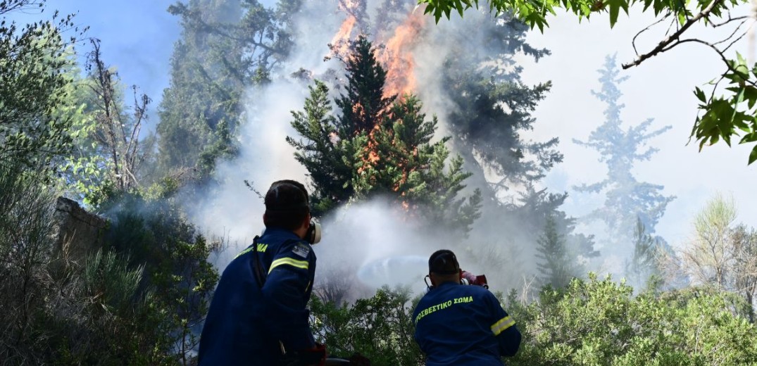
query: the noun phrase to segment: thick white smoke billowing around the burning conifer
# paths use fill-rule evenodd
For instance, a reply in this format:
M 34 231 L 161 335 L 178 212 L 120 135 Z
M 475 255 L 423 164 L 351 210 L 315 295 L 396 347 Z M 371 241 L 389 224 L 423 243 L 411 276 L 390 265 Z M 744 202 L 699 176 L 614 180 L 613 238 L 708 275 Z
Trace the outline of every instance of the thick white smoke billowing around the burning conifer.
M 425 17 L 406 21 L 408 17 L 422 17 L 422 8 L 413 13 L 413 2 L 393 4 L 368 2 L 366 14 L 360 14 L 359 24 L 346 34 L 354 38 L 360 31 L 373 31 L 369 36 L 378 38 L 373 39 L 374 45 L 391 41 L 394 54 L 385 57 L 403 57 L 400 64 L 405 68 L 397 72 L 406 73 L 394 78 L 415 80 L 400 82 L 397 92 L 419 95 L 425 110 L 435 113 L 440 120 L 436 138 L 449 135 L 447 116 L 454 112 L 454 104 L 442 79 L 444 67 L 448 67 L 444 60 L 453 53 L 484 52 L 487 35 L 481 30 L 486 28 L 481 27 L 481 23 L 494 23 L 494 20 L 481 11 L 469 11 L 464 19 L 439 24 Z M 294 54 L 269 85 L 248 91 L 244 124 L 238 136 L 238 156 L 217 164 L 216 178 L 220 185 L 211 188 L 199 203 L 192 205 L 197 208 L 191 209 L 192 221 L 210 231 L 212 236 L 225 237 L 231 244 L 217 259 L 216 265 L 222 270 L 263 230 L 263 201 L 244 181 L 251 181 L 260 193 L 279 179 L 307 183 L 307 172 L 294 159 L 294 150 L 285 138 L 298 136 L 291 128 L 290 111 L 302 110 L 310 82 L 291 74 L 304 69 L 319 79 L 344 75 L 338 60 L 324 62 L 324 57 L 331 55 L 328 44 L 334 42 L 340 27 L 343 28 L 347 14 L 337 10 L 337 2 L 317 5 L 308 2 L 304 7 L 296 22 Z M 382 14 L 376 11 L 379 7 L 394 8 L 394 11 Z M 360 24 L 360 21 L 369 24 Z M 371 26 L 372 21 L 375 23 Z M 400 34 L 402 29 L 410 37 Z M 403 87 L 413 89 L 399 90 Z M 332 88 L 332 92 L 338 93 L 338 89 Z M 427 118 L 431 118 L 430 113 Z M 487 217 L 488 213 L 483 212 L 483 216 Z M 516 225 L 504 223 L 502 218 L 480 220 L 485 224 L 478 228 L 486 232 L 475 233 L 465 242 L 451 242 L 450 238 L 439 237 L 433 231 L 424 232 L 417 225 L 408 225 L 403 215 L 381 199 L 340 207 L 321 221 L 323 239 L 316 245 L 315 252 L 318 256 L 316 281 L 323 288 L 328 288 L 329 281 L 341 280 L 342 284 L 354 282 L 354 293 L 370 294 L 383 284 L 410 285 L 420 292 L 425 288 L 423 276 L 428 272 L 428 256 L 439 249 L 455 250 L 463 269 L 476 274 L 485 272 L 493 290 L 518 287 L 524 279 L 522 273 L 535 268 L 531 253 L 514 249 L 523 247 L 523 243 L 519 243 L 522 234 L 501 234 L 509 227 L 517 231 Z

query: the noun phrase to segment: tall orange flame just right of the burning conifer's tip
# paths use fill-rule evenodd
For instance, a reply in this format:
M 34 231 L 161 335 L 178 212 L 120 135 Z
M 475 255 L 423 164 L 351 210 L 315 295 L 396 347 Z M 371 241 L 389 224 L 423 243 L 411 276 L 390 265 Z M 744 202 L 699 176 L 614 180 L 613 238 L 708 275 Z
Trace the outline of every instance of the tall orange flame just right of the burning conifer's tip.
M 425 24 L 422 12 L 410 13 L 407 19 L 394 29 L 394 36 L 385 42 L 385 48 L 378 55 L 379 61 L 385 65 L 386 84 L 384 96 L 400 95 L 415 92 L 416 76 L 414 71 L 415 60 L 410 48 L 415 45 L 416 39 Z

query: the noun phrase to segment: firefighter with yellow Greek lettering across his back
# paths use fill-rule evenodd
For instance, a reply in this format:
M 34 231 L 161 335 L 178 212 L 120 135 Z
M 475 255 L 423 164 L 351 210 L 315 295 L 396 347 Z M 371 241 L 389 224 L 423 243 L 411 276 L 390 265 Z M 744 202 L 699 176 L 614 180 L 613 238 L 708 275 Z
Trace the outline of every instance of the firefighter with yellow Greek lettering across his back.
M 452 251 L 428 259 L 431 287 L 413 312 L 426 365 L 503 365 L 503 356 L 518 352 L 521 333 L 489 290 L 460 284 L 462 276 Z

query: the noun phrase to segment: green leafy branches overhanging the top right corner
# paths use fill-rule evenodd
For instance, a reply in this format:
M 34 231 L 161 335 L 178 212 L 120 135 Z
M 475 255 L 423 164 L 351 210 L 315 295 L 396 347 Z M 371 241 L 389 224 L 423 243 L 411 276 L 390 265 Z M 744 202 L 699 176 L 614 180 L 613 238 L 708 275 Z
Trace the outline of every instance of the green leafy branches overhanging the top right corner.
M 463 17 L 466 9 L 478 8 L 478 0 L 419 0 L 418 3 L 425 4 L 425 14 L 433 14 L 437 22 L 443 15 L 449 18 L 453 10 Z M 491 0 L 489 10 L 497 16 L 511 14 L 531 29 L 536 26 L 544 32 L 544 26 L 549 26 L 547 15 L 556 15 L 560 8 L 577 15 L 579 20 L 588 19 L 594 13 L 609 13 L 612 28 L 621 10 L 628 14 L 628 9 L 638 4 L 643 6 L 642 11 L 652 11 L 657 19 L 634 36 L 631 45 L 636 56 L 623 64 L 623 69 L 639 66 L 657 54 L 686 43 L 708 48 L 721 58 L 724 70 L 708 83 L 709 95 L 700 88 L 694 89 L 701 104 L 690 138 L 699 142 L 699 150 L 721 140 L 731 146 L 734 137 L 739 139 L 739 144 L 757 142 L 757 63 L 750 67 L 738 53 L 735 60 L 727 56 L 755 22 L 754 17 L 732 14 L 738 7 L 748 5 L 746 0 Z M 697 28 L 707 30 L 692 30 Z M 658 29 L 662 36 L 650 51 L 640 53 L 636 40 L 652 29 Z M 721 36 L 723 34 L 727 36 Z M 749 154 L 749 164 L 755 160 L 757 144 Z

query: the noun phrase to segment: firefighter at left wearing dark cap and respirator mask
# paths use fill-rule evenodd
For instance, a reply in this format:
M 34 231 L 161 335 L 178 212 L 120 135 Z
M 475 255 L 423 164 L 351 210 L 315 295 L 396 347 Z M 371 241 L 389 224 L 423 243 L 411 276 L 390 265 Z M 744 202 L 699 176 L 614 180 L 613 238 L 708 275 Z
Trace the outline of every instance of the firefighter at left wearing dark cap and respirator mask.
M 320 225 L 305 187 L 276 181 L 266 192 L 266 230 L 226 267 L 200 338 L 200 365 L 318 365 L 326 348 L 308 324 Z

